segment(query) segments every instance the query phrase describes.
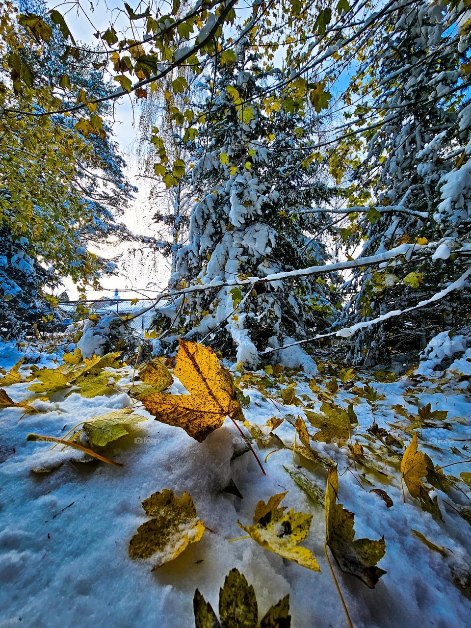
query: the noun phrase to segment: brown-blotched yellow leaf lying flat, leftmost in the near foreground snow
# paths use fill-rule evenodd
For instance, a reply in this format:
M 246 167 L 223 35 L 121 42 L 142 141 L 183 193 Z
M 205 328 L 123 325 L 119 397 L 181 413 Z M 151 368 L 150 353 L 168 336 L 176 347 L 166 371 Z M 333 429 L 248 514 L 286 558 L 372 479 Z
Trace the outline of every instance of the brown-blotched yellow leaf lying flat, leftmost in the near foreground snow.
M 129 541 L 129 556 L 148 559 L 154 569 L 176 558 L 205 533 L 188 493 L 176 497 L 173 490 L 164 489 L 142 503 L 146 515 L 153 518 L 139 526 Z

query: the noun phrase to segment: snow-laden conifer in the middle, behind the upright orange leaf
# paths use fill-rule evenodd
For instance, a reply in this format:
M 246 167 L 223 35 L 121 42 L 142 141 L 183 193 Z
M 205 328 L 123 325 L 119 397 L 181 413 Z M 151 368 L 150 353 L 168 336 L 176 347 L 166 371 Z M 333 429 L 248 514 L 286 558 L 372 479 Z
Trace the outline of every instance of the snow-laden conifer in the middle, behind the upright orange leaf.
M 315 237 L 322 219 L 311 225 L 302 213 L 330 195 L 318 163 L 299 150 L 313 126 L 293 101 L 264 96 L 266 84 L 243 46 L 218 68 L 215 84 L 207 78 L 206 122 L 192 146 L 190 242 L 178 252 L 173 287 L 266 277 L 325 259 Z M 269 347 L 325 328 L 332 303 L 327 284 L 300 276 L 187 293 L 176 310 L 176 333 L 254 367 Z M 276 355 L 296 363 L 288 350 Z

